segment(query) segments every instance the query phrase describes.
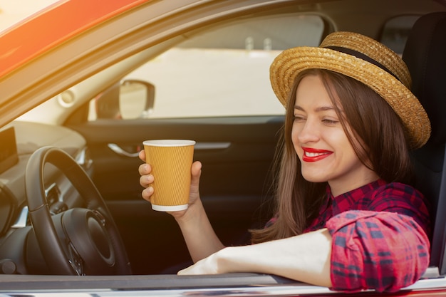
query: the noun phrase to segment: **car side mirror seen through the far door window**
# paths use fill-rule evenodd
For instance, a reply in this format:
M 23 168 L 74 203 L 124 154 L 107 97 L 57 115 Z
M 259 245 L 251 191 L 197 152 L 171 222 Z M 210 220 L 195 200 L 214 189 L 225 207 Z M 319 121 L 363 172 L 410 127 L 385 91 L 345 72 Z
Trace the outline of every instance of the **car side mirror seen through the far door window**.
M 155 85 L 144 80 L 115 83 L 95 98 L 98 119 L 148 118 L 155 105 Z

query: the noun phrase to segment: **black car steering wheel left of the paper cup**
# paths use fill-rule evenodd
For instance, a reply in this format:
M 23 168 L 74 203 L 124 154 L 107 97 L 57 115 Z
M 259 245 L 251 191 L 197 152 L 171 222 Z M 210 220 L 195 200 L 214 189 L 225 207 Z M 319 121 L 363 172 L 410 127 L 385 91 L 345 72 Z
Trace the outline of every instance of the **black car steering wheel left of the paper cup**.
M 43 172 L 49 163 L 70 180 L 87 208 L 51 215 Z M 56 147 L 41 147 L 26 165 L 28 212 L 49 274 L 131 274 L 125 246 L 98 189 L 73 158 Z

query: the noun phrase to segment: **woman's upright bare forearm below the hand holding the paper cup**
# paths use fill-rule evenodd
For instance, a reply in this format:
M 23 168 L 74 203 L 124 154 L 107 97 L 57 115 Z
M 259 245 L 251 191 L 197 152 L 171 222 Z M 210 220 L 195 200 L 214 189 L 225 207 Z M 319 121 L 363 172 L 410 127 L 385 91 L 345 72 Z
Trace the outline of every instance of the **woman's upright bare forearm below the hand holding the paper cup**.
M 187 217 L 176 218 L 176 220 L 194 263 L 224 248 L 222 241 L 212 229 L 199 199 L 190 207 Z

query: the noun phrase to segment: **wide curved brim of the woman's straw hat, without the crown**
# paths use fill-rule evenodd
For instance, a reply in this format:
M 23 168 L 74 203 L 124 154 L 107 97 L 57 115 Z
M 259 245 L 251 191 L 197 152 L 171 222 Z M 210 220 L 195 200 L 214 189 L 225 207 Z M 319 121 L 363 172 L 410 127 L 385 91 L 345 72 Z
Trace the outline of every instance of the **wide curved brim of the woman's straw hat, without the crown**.
M 400 80 L 372 63 L 330 48 L 290 48 L 274 59 L 270 67 L 271 86 L 285 108 L 296 76 L 312 68 L 347 75 L 368 85 L 383 97 L 403 121 L 411 148 L 422 147 L 429 139 L 430 121 L 427 113 Z

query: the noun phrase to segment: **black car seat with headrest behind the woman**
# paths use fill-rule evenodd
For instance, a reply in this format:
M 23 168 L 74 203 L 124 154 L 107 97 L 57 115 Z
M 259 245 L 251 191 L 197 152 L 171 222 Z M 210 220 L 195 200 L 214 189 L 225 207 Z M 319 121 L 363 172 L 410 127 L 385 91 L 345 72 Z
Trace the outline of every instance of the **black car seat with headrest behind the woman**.
M 416 187 L 430 202 L 430 266 L 446 273 L 446 11 L 418 19 L 405 45 L 403 60 L 412 75 L 412 91 L 432 125 L 426 145 L 413 152 Z

